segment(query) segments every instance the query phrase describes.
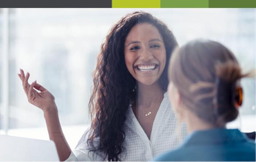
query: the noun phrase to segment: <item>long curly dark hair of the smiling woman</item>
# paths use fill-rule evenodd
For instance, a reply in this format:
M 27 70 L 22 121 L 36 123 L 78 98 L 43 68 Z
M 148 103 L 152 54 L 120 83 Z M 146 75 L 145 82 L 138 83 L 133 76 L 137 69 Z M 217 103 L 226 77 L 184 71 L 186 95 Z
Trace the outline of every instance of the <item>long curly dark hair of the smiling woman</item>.
M 119 154 L 123 151 L 125 140 L 124 122 L 131 101 L 135 100 L 136 80 L 128 72 L 125 65 L 124 43 L 131 28 L 138 23 L 154 25 L 164 40 L 166 48 L 166 67 L 160 77 L 164 91 L 168 86 L 169 59 L 177 46 L 172 31 L 151 14 L 136 11 L 122 17 L 111 28 L 101 45 L 97 58 L 96 69 L 93 72 L 93 89 L 89 101 L 89 112 L 92 117 L 87 143 L 90 151 L 101 154 L 105 160 L 120 161 Z M 100 142 L 93 141 L 99 138 Z

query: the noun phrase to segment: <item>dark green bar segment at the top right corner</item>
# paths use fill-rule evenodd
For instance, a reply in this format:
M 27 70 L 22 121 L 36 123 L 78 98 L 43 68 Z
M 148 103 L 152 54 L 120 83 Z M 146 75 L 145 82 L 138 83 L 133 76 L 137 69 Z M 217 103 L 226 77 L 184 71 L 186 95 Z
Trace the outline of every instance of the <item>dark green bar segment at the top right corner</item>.
M 209 0 L 210 8 L 256 8 L 256 0 Z

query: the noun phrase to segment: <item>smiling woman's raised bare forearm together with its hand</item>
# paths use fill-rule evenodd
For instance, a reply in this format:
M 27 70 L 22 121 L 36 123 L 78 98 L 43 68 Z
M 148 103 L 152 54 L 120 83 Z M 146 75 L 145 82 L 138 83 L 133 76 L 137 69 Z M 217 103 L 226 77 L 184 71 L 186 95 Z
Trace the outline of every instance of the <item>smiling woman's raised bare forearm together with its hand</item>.
M 18 76 L 21 78 L 28 102 L 43 110 L 49 138 L 55 142 L 60 160 L 66 160 L 71 154 L 71 149 L 60 126 L 54 96 L 43 86 L 36 83 L 36 81 L 32 84 L 28 84 L 29 73 L 25 75 L 22 69 Z

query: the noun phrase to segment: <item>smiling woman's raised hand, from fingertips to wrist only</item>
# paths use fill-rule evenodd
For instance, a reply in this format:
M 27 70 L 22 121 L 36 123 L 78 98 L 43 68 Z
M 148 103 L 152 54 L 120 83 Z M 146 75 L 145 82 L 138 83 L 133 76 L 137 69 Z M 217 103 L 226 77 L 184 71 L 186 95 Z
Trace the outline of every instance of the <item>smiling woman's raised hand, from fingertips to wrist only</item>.
M 25 94 L 27 95 L 28 102 L 39 107 L 43 112 L 56 109 L 54 96 L 43 86 L 34 81 L 32 84 L 28 84 L 28 78 L 30 74 L 24 74 L 24 71 L 20 69 L 19 78 L 22 81 L 22 86 Z M 39 92 L 38 92 L 38 91 Z

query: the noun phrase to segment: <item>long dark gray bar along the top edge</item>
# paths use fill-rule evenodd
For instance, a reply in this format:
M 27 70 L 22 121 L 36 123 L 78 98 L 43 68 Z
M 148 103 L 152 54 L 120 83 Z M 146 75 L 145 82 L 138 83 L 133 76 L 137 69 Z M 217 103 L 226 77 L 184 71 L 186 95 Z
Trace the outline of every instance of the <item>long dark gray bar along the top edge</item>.
M 0 0 L 0 8 L 112 8 L 112 0 Z

